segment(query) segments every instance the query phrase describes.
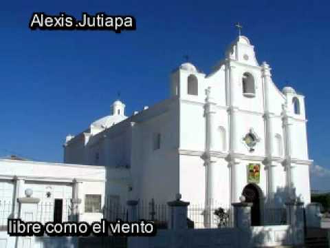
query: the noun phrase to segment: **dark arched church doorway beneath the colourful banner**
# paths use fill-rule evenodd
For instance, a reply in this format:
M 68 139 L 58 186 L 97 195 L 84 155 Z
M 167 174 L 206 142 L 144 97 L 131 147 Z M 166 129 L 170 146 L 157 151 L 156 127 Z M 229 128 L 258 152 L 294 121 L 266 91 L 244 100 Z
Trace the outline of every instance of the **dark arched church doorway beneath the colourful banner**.
M 245 196 L 246 203 L 253 203 L 251 208 L 251 225 L 261 225 L 260 222 L 260 196 L 258 186 L 250 183 L 243 189 L 243 196 Z

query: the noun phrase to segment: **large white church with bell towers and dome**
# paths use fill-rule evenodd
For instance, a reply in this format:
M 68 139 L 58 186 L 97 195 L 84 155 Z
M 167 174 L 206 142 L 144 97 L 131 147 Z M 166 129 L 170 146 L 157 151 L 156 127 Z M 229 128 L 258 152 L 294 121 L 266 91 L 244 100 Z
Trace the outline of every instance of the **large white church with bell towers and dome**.
M 247 37 L 212 73 L 187 62 L 170 78 L 168 99 L 131 116 L 115 101 L 111 115 L 67 136 L 64 162 L 109 168 L 106 194 L 121 203 L 177 193 L 206 208 L 310 203 L 304 96 L 278 90 Z

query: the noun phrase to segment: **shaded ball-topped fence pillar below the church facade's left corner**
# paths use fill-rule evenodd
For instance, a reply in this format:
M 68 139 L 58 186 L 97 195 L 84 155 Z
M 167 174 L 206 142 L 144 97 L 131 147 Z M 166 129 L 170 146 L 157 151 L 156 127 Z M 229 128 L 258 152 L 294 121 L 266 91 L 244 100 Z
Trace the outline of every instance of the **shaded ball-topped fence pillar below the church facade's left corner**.
M 181 194 L 175 196 L 175 200 L 168 202 L 169 208 L 169 223 L 168 229 L 188 229 L 187 225 L 187 207 L 190 203 L 181 200 Z

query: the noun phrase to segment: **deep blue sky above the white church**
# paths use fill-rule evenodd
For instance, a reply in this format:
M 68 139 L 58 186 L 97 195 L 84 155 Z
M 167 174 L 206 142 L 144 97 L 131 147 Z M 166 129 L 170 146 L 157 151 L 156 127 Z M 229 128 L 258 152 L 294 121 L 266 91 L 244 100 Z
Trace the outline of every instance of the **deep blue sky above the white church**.
M 56 2 L 56 3 L 55 3 Z M 170 71 L 189 54 L 204 72 L 236 37 L 234 23 L 273 68 L 281 89 L 305 94 L 310 158 L 325 169 L 314 188 L 330 189 L 329 2 L 33 1 L 0 10 L 0 156 L 63 160 L 63 141 L 109 113 L 117 92 L 126 112 L 168 96 Z M 135 32 L 34 31 L 32 12 L 131 14 Z M 318 170 L 319 172 L 320 170 Z

